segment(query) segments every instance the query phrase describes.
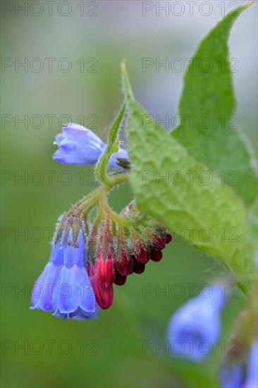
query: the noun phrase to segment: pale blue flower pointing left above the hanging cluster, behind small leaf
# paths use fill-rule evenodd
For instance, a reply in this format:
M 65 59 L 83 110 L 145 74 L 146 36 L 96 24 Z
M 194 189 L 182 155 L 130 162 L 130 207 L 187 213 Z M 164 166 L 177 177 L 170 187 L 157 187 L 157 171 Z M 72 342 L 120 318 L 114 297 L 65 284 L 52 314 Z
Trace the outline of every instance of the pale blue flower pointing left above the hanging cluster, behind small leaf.
M 94 132 L 75 123 L 67 123 L 63 133 L 56 135 L 54 144 L 59 146 L 53 158 L 63 164 L 95 164 L 106 145 Z M 121 169 L 118 159 L 128 159 L 128 152 L 120 148 L 109 160 L 109 167 Z

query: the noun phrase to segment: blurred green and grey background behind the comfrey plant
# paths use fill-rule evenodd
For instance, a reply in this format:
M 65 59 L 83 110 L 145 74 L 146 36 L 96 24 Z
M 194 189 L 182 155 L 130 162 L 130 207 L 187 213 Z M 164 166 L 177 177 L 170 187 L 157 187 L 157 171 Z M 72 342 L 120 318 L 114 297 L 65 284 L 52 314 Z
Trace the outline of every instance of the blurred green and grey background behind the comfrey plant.
M 221 346 L 200 365 L 171 358 L 162 348 L 169 317 L 192 296 L 187 284 L 197 285 L 196 295 L 200 285 L 225 274 L 211 257 L 182 242 L 168 245 L 164 260 L 147 265 L 144 274 L 116 286 L 113 306 L 97 321 L 64 321 L 29 308 L 30 289 L 49 258 L 49 230 L 94 188 L 90 167 L 51 159 L 62 123 L 70 117 L 105 140 L 123 98 L 122 59 L 141 104 L 159 115 L 158 121 L 176 114 L 183 72 L 155 66 L 143 72 L 142 58 L 160 63 L 180 58 L 186 66 L 199 40 L 221 18 L 221 2 L 212 2 L 209 16 L 199 11 L 190 16 L 184 1 L 181 16 L 162 11 L 156 16 L 155 9 L 143 16 L 142 1 L 53 1 L 51 13 L 45 2 L 25 3 L 3 1 L 1 17 L 1 386 L 217 387 Z M 254 4 L 235 23 L 230 39 L 231 57 L 238 59 L 237 114 L 253 151 L 256 30 Z M 121 186 L 110 203 L 120 210 L 131 199 L 130 187 Z M 238 295 L 223 312 L 225 343 L 244 305 Z

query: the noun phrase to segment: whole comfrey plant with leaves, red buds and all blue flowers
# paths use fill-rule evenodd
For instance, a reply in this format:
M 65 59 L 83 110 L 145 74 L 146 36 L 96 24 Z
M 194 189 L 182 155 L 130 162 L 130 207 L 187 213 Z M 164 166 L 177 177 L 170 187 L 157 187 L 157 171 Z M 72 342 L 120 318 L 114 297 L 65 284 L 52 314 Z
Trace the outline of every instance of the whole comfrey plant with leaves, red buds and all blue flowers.
M 185 73 L 180 126 L 174 131 L 165 131 L 135 100 L 123 62 L 125 102 L 107 143 L 74 123 L 56 136 L 54 160 L 93 164 L 99 186 L 59 219 L 49 262 L 32 291 L 32 308 L 62 318 L 96 318 L 112 305 L 114 286 L 161 260 L 172 240 L 166 228 L 175 236 L 180 231 L 186 243 L 221 262 L 226 274 L 205 287 L 208 296 L 199 293 L 172 315 L 167 331 L 171 353 L 197 363 L 209 354 L 205 344 L 212 350 L 218 343 L 221 312 L 229 303 L 221 282 L 235 281 L 249 301 L 232 334 L 237 353 L 228 353 L 221 363 L 223 388 L 258 386 L 257 174 L 244 138 L 231 126 L 235 96 L 228 53 L 231 27 L 249 5 L 228 13 L 199 44 Z M 128 152 L 118 141 L 125 118 Z M 231 184 L 238 171 L 238 181 Z M 126 181 L 134 199 L 118 214 L 108 195 Z M 199 386 L 199 377 L 197 382 L 189 378 L 180 385 Z

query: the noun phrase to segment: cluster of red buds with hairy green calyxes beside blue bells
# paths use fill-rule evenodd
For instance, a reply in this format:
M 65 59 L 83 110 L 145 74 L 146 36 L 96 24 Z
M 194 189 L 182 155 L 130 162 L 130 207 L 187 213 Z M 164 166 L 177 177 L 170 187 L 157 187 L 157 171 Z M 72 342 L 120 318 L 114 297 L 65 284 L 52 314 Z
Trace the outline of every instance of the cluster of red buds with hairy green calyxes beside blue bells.
M 172 240 L 164 226 L 146 219 L 130 203 L 122 210 L 124 223 L 109 215 L 92 227 L 87 272 L 97 303 L 102 309 L 113 303 L 113 284 L 123 286 L 128 275 L 142 274 L 149 260 L 159 262 L 161 250 Z

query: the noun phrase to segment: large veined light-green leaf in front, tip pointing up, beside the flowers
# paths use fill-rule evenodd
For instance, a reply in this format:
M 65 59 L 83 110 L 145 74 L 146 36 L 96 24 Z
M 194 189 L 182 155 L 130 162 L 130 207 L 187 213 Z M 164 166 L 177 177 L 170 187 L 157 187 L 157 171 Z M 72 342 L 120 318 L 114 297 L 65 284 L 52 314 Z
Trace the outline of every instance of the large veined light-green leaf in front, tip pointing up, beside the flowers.
M 135 102 L 124 65 L 123 81 L 129 111 L 130 183 L 139 210 L 151 214 L 195 248 L 218 257 L 236 273 L 252 272 L 254 248 L 247 239 L 242 200 L 228 186 L 221 186 L 218 177 L 207 173 L 206 166 Z M 204 174 L 210 176 L 210 184 L 204 184 Z

